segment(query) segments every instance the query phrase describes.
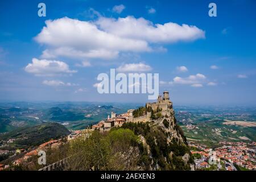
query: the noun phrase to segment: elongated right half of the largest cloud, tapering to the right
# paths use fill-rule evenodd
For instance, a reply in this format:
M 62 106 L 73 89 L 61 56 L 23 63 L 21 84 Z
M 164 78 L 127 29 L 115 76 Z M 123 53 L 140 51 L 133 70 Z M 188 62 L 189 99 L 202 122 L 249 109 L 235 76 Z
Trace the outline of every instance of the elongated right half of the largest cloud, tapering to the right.
M 205 38 L 205 32 L 196 26 L 177 23 L 153 24 L 144 18 L 104 18 L 96 22 L 102 30 L 122 38 L 146 40 L 151 43 L 174 43 Z

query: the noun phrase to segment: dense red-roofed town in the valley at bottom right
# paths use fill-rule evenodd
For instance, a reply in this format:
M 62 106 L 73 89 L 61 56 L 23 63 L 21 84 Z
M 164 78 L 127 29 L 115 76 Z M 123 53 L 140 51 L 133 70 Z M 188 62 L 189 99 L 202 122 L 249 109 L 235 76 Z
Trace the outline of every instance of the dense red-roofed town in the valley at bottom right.
M 221 147 L 207 148 L 204 144 L 189 142 L 195 159 L 196 169 L 210 168 L 209 159 L 214 159 L 216 170 L 256 170 L 256 142 L 220 142 Z M 211 164 L 210 164 L 211 163 Z

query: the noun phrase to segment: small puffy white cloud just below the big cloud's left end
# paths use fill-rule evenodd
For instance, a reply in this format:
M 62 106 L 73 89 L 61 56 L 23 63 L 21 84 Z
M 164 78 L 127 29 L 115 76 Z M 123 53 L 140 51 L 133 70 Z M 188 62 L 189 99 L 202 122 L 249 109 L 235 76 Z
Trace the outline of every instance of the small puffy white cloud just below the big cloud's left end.
M 70 70 L 68 64 L 63 61 L 57 60 L 39 60 L 32 59 L 32 63 L 29 63 L 25 71 L 28 73 L 34 73 L 36 76 L 55 76 L 63 73 L 76 73 L 75 70 Z

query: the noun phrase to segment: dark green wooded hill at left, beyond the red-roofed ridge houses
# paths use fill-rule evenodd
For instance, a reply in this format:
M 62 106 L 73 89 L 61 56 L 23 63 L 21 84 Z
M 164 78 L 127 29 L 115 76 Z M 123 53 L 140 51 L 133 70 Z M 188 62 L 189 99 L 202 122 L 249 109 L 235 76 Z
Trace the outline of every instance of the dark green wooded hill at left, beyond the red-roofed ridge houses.
M 1 140 L 15 139 L 15 146 L 38 146 L 50 139 L 57 139 L 69 134 L 68 129 L 59 123 L 43 123 L 32 127 L 22 127 L 10 133 L 0 135 Z

